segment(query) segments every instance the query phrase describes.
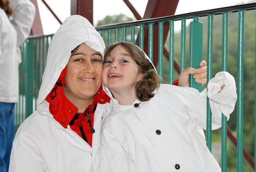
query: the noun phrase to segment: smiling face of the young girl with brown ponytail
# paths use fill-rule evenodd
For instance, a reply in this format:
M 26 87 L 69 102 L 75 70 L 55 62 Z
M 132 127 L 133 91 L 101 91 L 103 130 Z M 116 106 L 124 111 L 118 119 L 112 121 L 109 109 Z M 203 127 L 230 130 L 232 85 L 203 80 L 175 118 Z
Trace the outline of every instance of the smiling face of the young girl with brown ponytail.
M 115 47 L 103 65 L 102 82 L 112 92 L 134 91 L 142 74 L 139 66 L 122 47 Z

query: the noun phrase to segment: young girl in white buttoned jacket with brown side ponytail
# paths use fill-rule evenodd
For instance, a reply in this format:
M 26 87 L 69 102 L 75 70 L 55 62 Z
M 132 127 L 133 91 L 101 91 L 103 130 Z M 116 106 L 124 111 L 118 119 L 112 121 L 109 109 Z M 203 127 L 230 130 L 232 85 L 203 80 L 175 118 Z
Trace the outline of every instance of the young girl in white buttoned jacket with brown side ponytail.
M 221 172 L 202 130 L 206 89 L 160 84 L 150 59 L 128 42 L 107 47 L 103 63 L 111 110 L 101 127 L 96 172 Z M 217 129 L 222 112 L 229 117 L 234 110 L 234 78 L 218 73 L 208 97 Z

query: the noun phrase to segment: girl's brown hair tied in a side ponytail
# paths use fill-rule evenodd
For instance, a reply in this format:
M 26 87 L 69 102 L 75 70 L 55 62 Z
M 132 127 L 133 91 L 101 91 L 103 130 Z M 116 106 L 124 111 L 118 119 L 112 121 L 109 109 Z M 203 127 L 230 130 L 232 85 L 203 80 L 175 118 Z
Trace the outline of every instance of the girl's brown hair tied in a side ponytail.
M 112 50 L 117 46 L 123 47 L 128 52 L 130 57 L 138 64 L 139 71 L 143 74 L 143 77 L 135 86 L 137 99 L 142 102 L 150 100 L 155 96 L 153 91 L 160 86 L 160 77 L 158 74 L 155 71 L 149 71 L 150 69 L 154 69 L 153 65 L 146 58 L 142 50 L 134 44 L 123 41 L 112 44 L 105 49 L 103 63 L 106 62 L 106 57 L 108 57 Z

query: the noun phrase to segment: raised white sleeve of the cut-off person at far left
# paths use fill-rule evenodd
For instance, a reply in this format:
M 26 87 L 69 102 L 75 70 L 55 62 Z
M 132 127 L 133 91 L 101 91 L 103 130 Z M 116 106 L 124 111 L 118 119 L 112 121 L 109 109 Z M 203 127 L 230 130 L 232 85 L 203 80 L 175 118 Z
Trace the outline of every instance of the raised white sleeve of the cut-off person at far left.
M 11 23 L 17 31 L 17 46 L 29 36 L 35 16 L 35 7 L 30 0 L 11 0 L 13 15 Z

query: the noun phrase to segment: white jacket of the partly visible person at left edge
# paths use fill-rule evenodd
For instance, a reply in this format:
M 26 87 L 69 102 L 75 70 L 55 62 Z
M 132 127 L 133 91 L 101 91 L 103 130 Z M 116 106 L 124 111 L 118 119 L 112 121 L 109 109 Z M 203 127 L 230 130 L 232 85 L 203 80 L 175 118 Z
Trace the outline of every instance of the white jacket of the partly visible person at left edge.
M 18 101 L 21 62 L 18 46 L 28 37 L 35 13 L 30 0 L 11 0 L 11 7 L 11 22 L 3 17 L 4 11 L 0 9 L 0 102 L 6 103 Z

